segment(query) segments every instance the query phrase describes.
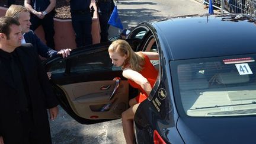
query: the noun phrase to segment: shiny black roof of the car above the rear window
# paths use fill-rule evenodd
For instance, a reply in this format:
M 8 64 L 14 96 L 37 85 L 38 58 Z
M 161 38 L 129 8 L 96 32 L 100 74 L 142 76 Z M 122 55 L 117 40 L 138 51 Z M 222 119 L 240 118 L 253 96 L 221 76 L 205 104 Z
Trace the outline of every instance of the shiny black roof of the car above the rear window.
M 151 26 L 169 60 L 256 53 L 256 23 L 245 15 L 178 17 Z

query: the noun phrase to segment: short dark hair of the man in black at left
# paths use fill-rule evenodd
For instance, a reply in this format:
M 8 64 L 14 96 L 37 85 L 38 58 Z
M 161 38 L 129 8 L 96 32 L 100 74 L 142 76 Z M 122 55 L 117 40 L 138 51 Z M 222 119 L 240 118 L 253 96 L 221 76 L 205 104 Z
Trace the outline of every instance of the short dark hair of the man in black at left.
M 10 26 L 20 25 L 20 23 L 12 17 L 0 17 L 0 33 L 4 33 L 9 39 L 9 33 L 11 32 Z

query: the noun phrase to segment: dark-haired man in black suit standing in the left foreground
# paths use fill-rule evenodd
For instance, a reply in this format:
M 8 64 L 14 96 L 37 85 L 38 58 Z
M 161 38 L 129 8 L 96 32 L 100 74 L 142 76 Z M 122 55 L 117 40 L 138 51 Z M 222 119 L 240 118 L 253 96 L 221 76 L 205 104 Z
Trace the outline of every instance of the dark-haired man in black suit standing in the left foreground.
M 0 18 L 0 144 L 52 143 L 47 116 L 57 100 L 31 44 L 21 46 L 20 23 Z

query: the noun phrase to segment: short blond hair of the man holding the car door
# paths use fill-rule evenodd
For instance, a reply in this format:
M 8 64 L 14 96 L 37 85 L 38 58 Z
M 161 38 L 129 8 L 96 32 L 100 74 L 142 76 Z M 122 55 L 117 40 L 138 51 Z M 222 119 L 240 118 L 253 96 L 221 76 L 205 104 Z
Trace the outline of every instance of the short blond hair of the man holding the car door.
M 7 17 L 13 17 L 16 20 L 20 18 L 20 13 L 21 12 L 29 12 L 27 8 L 21 6 L 21 5 L 11 5 L 8 9 L 7 12 L 5 13 L 5 16 Z

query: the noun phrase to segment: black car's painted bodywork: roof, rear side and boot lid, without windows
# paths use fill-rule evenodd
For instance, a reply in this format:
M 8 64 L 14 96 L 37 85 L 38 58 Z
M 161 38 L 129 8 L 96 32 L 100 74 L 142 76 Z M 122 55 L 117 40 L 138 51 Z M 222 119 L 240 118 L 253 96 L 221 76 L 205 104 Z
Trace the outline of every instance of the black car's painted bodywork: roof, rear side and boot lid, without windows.
M 250 126 L 249 131 L 254 129 L 253 116 L 226 119 L 181 117 L 177 106 L 175 106 L 177 103 L 172 90 L 174 87 L 172 86 L 169 62 L 181 59 L 256 53 L 253 43 L 256 40 L 254 21 L 247 16 L 216 17 L 204 15 L 191 18 L 178 17 L 144 24 L 150 28 L 158 45 L 161 77 L 158 90 L 155 90 L 156 94 L 149 96 L 152 97 L 151 101 L 140 104 L 135 114 L 134 125 L 137 143 L 153 143 L 153 130 L 157 130 L 166 143 L 222 143 L 222 139 L 225 139 L 223 143 L 241 143 L 243 139 L 248 137 L 249 139 L 246 141 L 248 143 L 252 142 L 253 134 L 243 133 L 241 136 L 244 137 L 239 137 L 239 129 L 246 131 L 247 127 Z M 241 42 L 237 42 L 236 39 Z M 158 98 L 158 91 L 161 88 L 165 89 L 167 93 L 164 100 Z M 158 98 L 158 100 L 155 100 L 155 98 Z M 169 105 L 166 104 L 166 101 L 169 101 Z M 172 109 L 169 109 L 169 107 L 172 107 Z M 168 111 L 168 113 L 165 110 L 171 111 Z M 153 113 L 152 111 L 156 112 Z M 227 128 L 233 130 L 231 133 L 228 129 L 225 129 L 224 124 L 228 123 L 229 119 L 232 119 L 232 123 L 229 123 Z M 241 123 L 241 121 L 247 121 L 248 119 L 251 119 L 248 121 L 249 124 Z M 209 125 L 209 123 L 212 125 Z M 224 125 L 217 127 L 217 124 L 220 123 Z M 239 123 L 239 126 L 236 127 L 235 123 Z M 200 132 L 200 129 L 203 129 L 203 132 Z M 215 136 L 215 133 L 217 133 L 217 136 Z M 140 135 L 147 138 L 144 139 Z M 233 136 L 239 140 L 229 140 Z M 207 137 L 210 137 L 210 139 L 207 139 Z M 213 140 L 214 138 L 215 140 Z

